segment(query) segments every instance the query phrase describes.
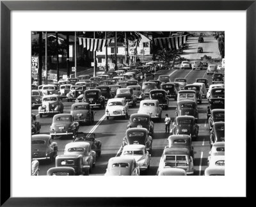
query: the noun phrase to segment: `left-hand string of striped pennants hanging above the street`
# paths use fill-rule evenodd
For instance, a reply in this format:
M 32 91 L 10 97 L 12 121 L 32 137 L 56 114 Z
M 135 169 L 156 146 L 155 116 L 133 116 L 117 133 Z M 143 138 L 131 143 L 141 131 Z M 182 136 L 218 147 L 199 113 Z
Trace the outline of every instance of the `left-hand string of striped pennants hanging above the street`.
M 90 51 L 102 50 L 102 47 L 109 46 L 112 39 L 78 38 L 79 45 Z

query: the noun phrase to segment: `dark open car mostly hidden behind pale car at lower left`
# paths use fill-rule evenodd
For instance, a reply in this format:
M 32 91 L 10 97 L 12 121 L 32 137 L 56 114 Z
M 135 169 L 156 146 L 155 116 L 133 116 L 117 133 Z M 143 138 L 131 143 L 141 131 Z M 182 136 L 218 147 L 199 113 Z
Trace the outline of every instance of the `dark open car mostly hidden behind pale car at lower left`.
M 101 155 L 101 141 L 95 139 L 94 133 L 77 132 L 73 138 L 73 142 L 88 142 L 91 150 L 95 151 L 97 157 Z

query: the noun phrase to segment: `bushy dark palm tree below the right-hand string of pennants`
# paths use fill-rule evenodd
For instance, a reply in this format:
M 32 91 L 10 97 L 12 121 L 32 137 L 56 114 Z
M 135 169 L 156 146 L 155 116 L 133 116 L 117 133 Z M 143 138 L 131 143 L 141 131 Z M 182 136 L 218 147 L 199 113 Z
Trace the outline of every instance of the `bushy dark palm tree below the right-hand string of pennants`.
M 158 57 L 160 61 L 163 61 L 167 66 L 170 66 L 170 62 L 173 61 L 170 68 L 173 68 L 175 61 L 180 59 L 180 55 L 177 54 L 176 50 L 159 50 L 156 54 L 156 57 Z

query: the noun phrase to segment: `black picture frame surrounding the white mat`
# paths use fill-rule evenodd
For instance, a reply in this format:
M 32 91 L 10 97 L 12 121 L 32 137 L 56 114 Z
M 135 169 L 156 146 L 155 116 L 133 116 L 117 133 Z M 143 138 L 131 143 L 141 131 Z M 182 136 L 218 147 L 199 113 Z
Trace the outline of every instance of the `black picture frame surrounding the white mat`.
M 100 6 L 99 6 L 100 5 Z M 246 10 L 246 162 L 255 148 L 256 2 L 253 1 L 1 1 L 1 206 L 129 206 L 154 198 L 10 197 L 10 12 L 12 10 Z M 250 110 L 249 110 L 250 109 Z M 237 116 L 238 119 L 239 116 Z M 239 119 L 237 120 L 237 122 Z M 243 132 L 245 133 L 245 132 Z M 249 141 L 250 139 L 250 141 Z M 251 143 L 252 141 L 253 144 Z M 250 144 L 251 143 L 251 144 Z M 248 166 L 248 165 L 247 165 Z M 247 167 L 246 166 L 246 167 Z M 253 171 L 253 169 L 250 169 Z M 254 176 L 246 169 L 246 197 Z M 249 181 L 249 183 L 247 183 Z M 251 182 L 253 183 L 253 182 Z M 145 202 L 145 203 L 144 203 Z M 244 203 L 243 203 L 244 204 Z

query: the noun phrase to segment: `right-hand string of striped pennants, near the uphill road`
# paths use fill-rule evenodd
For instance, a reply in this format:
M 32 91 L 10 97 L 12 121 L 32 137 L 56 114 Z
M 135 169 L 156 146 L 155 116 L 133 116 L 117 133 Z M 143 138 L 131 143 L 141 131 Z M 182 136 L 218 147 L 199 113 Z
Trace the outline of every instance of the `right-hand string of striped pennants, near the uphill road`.
M 156 45 L 159 45 L 161 49 L 178 50 L 182 43 L 188 40 L 188 35 L 170 36 L 166 38 L 154 38 Z

